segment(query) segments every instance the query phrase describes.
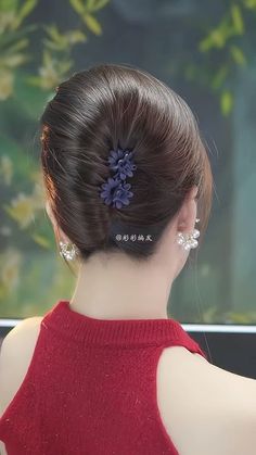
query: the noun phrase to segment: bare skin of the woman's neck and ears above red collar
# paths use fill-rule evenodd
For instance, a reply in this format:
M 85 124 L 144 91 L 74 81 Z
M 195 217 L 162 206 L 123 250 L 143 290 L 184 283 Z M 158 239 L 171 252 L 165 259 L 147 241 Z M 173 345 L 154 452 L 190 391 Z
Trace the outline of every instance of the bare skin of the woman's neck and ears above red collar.
M 71 307 L 101 319 L 167 318 L 172 281 L 183 268 L 189 255 L 189 252 L 177 243 L 176 236 L 178 231 L 192 232 L 195 227 L 196 193 L 197 188 L 193 187 L 150 262 L 137 264 L 124 254 L 107 257 L 104 253 L 99 253 L 86 264 L 79 264 Z M 56 239 L 69 241 L 57 227 L 48 203 L 47 213 Z M 124 282 L 132 283 L 125 293 Z

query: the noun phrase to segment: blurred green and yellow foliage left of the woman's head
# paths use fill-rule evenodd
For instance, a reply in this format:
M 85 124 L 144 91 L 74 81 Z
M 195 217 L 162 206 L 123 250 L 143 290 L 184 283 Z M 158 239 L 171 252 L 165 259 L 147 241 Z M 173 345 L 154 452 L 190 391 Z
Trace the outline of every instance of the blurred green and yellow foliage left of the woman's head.
M 34 140 L 38 118 L 60 80 L 68 77 L 75 62 L 76 45 L 88 34 L 102 34 L 95 14 L 108 0 L 71 0 L 80 18 L 75 29 L 61 30 L 56 24 L 24 24 L 37 0 L 0 0 L 0 193 L 1 317 L 37 315 L 72 289 L 74 276 L 59 252 L 44 210 L 42 175 L 38 170 Z M 68 3 L 65 5 L 68 8 Z M 25 64 L 36 54 L 29 51 L 33 33 L 43 30 L 38 45 L 41 63 L 36 74 Z M 28 131 L 36 131 L 35 137 Z M 47 291 L 46 291 L 47 288 Z

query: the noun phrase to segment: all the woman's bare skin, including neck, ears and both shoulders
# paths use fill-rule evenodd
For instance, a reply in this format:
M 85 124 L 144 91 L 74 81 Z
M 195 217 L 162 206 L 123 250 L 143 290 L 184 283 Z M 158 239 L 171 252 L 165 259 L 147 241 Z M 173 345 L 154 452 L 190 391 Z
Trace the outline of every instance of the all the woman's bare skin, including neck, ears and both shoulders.
M 194 187 L 188 193 L 150 262 L 137 265 L 124 255 L 98 254 L 80 264 L 73 311 L 100 319 L 167 318 L 171 285 L 189 256 L 176 237 L 195 227 L 196 191 Z M 68 241 L 48 203 L 46 208 L 57 241 Z M 124 282 L 132 283 L 125 293 Z M 0 415 L 25 377 L 40 321 L 41 317 L 23 320 L 3 341 Z M 159 357 L 156 386 L 159 415 L 179 455 L 256 454 L 255 380 L 218 368 L 182 346 L 170 346 Z M 5 455 L 3 444 L 0 447 Z

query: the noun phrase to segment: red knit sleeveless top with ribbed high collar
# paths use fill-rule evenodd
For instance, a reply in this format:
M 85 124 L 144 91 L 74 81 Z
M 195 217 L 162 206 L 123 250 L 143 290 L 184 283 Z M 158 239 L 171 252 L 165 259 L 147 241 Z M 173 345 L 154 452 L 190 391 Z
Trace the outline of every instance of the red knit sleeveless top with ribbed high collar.
M 60 300 L 0 418 L 9 455 L 178 455 L 156 402 L 166 346 L 207 356 L 175 319 L 95 319 Z

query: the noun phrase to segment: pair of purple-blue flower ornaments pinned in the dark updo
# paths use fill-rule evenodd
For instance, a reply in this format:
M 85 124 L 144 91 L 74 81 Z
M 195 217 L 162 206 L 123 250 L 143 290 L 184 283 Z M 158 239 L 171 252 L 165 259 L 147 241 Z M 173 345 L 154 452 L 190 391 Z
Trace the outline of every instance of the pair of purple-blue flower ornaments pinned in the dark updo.
M 116 208 L 121 208 L 123 205 L 129 205 L 129 199 L 133 195 L 130 191 L 130 184 L 126 182 L 127 177 L 133 177 L 133 170 L 137 169 L 132 161 L 133 152 L 128 150 L 117 151 L 111 150 L 107 159 L 111 170 L 115 170 L 113 177 L 108 177 L 105 184 L 101 185 L 100 197 L 104 200 L 106 205 L 113 205 Z

